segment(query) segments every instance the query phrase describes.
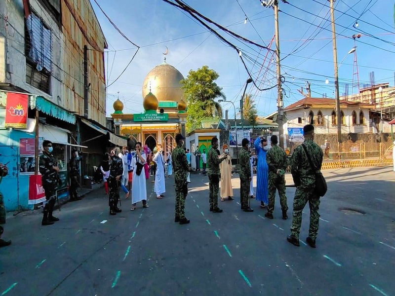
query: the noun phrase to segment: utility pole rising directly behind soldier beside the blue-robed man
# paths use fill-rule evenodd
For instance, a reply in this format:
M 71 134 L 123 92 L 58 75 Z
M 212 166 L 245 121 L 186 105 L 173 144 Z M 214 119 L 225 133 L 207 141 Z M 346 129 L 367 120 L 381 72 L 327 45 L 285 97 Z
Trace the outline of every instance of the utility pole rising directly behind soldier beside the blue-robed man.
M 281 87 L 281 68 L 280 68 L 280 37 L 278 36 L 278 0 L 274 1 L 275 9 L 275 29 L 276 29 L 276 64 L 277 64 L 277 123 L 280 147 L 284 149 L 284 130 L 282 110 L 282 87 Z

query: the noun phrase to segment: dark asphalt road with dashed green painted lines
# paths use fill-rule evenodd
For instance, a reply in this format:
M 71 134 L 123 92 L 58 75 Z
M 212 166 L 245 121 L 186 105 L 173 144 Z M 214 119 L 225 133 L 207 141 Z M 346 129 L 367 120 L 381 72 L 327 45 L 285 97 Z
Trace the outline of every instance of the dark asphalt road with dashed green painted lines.
M 395 295 L 395 174 L 392 168 L 325 171 L 317 248 L 286 241 L 291 220 L 275 219 L 251 200 L 209 212 L 208 179 L 192 175 L 187 225 L 174 222 L 174 179 L 162 200 L 148 182 L 149 208 L 110 216 L 102 190 L 56 211 L 59 222 L 41 226 L 39 211 L 8 219 L 0 249 L 0 293 L 6 296 L 109 295 Z M 287 176 L 289 178 L 289 176 Z M 104 190 L 104 189 L 103 189 Z M 295 188 L 287 188 L 291 217 Z M 348 210 L 342 210 L 348 209 Z M 359 212 L 355 212 L 359 211 Z

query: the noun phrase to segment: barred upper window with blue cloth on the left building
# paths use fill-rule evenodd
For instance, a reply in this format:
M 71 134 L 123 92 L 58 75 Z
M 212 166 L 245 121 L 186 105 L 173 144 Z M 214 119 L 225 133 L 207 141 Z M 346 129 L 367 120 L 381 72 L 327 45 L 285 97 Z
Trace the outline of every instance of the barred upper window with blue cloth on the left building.
M 52 33 L 33 12 L 25 22 L 26 82 L 49 93 L 52 72 Z

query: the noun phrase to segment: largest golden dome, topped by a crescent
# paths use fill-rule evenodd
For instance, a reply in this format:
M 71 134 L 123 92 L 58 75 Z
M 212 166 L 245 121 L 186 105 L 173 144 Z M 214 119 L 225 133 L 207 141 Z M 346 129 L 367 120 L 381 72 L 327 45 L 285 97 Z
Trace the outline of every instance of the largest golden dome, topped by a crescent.
M 173 66 L 164 62 L 147 74 L 143 82 L 143 98 L 150 92 L 157 97 L 158 101 L 178 102 L 184 95 L 180 80 L 184 76 Z

